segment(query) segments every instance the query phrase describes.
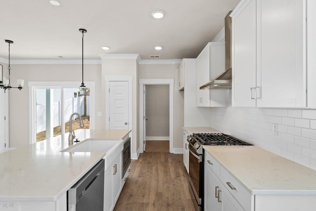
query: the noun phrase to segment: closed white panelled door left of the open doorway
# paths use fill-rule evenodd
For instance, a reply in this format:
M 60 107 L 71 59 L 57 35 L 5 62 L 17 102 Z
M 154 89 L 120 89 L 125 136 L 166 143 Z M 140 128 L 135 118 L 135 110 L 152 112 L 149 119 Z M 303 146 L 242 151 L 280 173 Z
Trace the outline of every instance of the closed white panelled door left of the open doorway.
M 109 82 L 109 128 L 128 129 L 128 82 Z

